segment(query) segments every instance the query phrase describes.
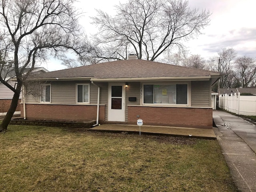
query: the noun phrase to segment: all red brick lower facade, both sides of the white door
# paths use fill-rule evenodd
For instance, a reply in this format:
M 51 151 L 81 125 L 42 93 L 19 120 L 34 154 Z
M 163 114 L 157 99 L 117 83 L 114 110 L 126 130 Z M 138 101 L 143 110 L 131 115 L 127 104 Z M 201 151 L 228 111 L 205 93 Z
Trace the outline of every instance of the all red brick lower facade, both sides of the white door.
M 96 105 L 26 104 L 27 120 L 83 122 L 96 120 L 96 113 Z M 212 128 L 212 108 L 128 106 L 128 122 L 124 123 L 136 124 L 137 115 L 144 125 Z M 99 122 L 102 124 L 104 120 L 105 106 L 100 106 Z

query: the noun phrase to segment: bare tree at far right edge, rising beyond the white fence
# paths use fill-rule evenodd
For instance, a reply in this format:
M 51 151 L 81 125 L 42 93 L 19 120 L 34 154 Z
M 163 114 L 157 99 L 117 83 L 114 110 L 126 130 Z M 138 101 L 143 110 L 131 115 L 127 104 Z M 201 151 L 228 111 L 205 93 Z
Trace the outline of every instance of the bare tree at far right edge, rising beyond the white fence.
M 236 79 L 240 81 L 242 87 L 248 87 L 256 79 L 256 64 L 255 59 L 242 56 L 238 57 L 235 61 L 236 66 Z

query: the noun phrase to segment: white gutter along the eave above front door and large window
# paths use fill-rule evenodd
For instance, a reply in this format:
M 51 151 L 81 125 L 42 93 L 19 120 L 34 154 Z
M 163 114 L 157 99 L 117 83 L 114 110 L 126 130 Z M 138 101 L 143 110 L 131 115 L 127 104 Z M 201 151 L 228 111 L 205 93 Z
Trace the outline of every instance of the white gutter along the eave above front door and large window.
M 146 77 L 146 78 L 92 78 L 95 82 L 110 82 L 110 81 L 164 81 L 164 80 L 205 80 L 211 76 L 190 76 L 190 77 Z

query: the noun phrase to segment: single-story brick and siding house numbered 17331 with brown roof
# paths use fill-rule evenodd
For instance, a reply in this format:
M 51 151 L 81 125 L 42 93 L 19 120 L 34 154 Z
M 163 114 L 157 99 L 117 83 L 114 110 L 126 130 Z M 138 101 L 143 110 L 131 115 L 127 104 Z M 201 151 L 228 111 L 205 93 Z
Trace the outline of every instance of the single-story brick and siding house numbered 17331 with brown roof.
M 26 95 L 28 120 L 212 128 L 212 85 L 219 72 L 147 60 L 119 60 L 40 74 Z M 33 79 L 30 79 L 33 80 Z

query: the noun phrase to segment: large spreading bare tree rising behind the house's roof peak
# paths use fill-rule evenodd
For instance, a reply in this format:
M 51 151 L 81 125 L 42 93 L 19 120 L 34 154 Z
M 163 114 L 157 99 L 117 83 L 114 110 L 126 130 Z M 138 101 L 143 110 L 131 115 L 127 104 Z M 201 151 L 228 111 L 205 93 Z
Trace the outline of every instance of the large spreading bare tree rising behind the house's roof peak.
M 99 27 L 94 36 L 98 50 L 94 57 L 119 60 L 127 52 L 154 61 L 170 46 L 182 49 L 182 40 L 201 34 L 208 25 L 209 11 L 190 9 L 187 0 L 128 0 L 116 6 L 116 15 L 97 10 L 92 17 Z

